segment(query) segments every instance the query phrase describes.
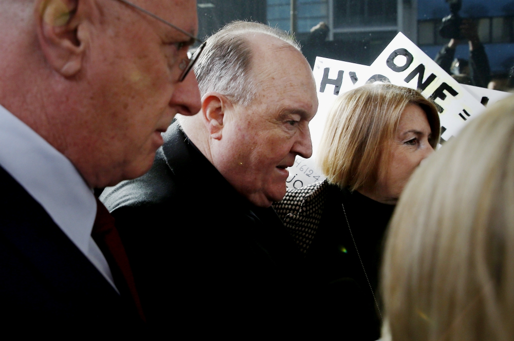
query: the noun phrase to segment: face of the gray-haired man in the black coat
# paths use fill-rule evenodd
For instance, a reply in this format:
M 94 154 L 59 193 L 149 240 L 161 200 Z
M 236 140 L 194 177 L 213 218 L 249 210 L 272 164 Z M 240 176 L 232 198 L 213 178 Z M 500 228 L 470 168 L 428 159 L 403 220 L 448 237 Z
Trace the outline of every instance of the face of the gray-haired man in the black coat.
M 239 193 L 267 207 L 286 193 L 285 168 L 297 155 L 312 154 L 308 122 L 318 100 L 312 71 L 300 52 L 269 36 L 253 42 L 259 44 L 252 62 L 258 96 L 247 107 L 235 104 L 229 113 L 225 148 L 217 155 L 223 162 L 215 165 Z

